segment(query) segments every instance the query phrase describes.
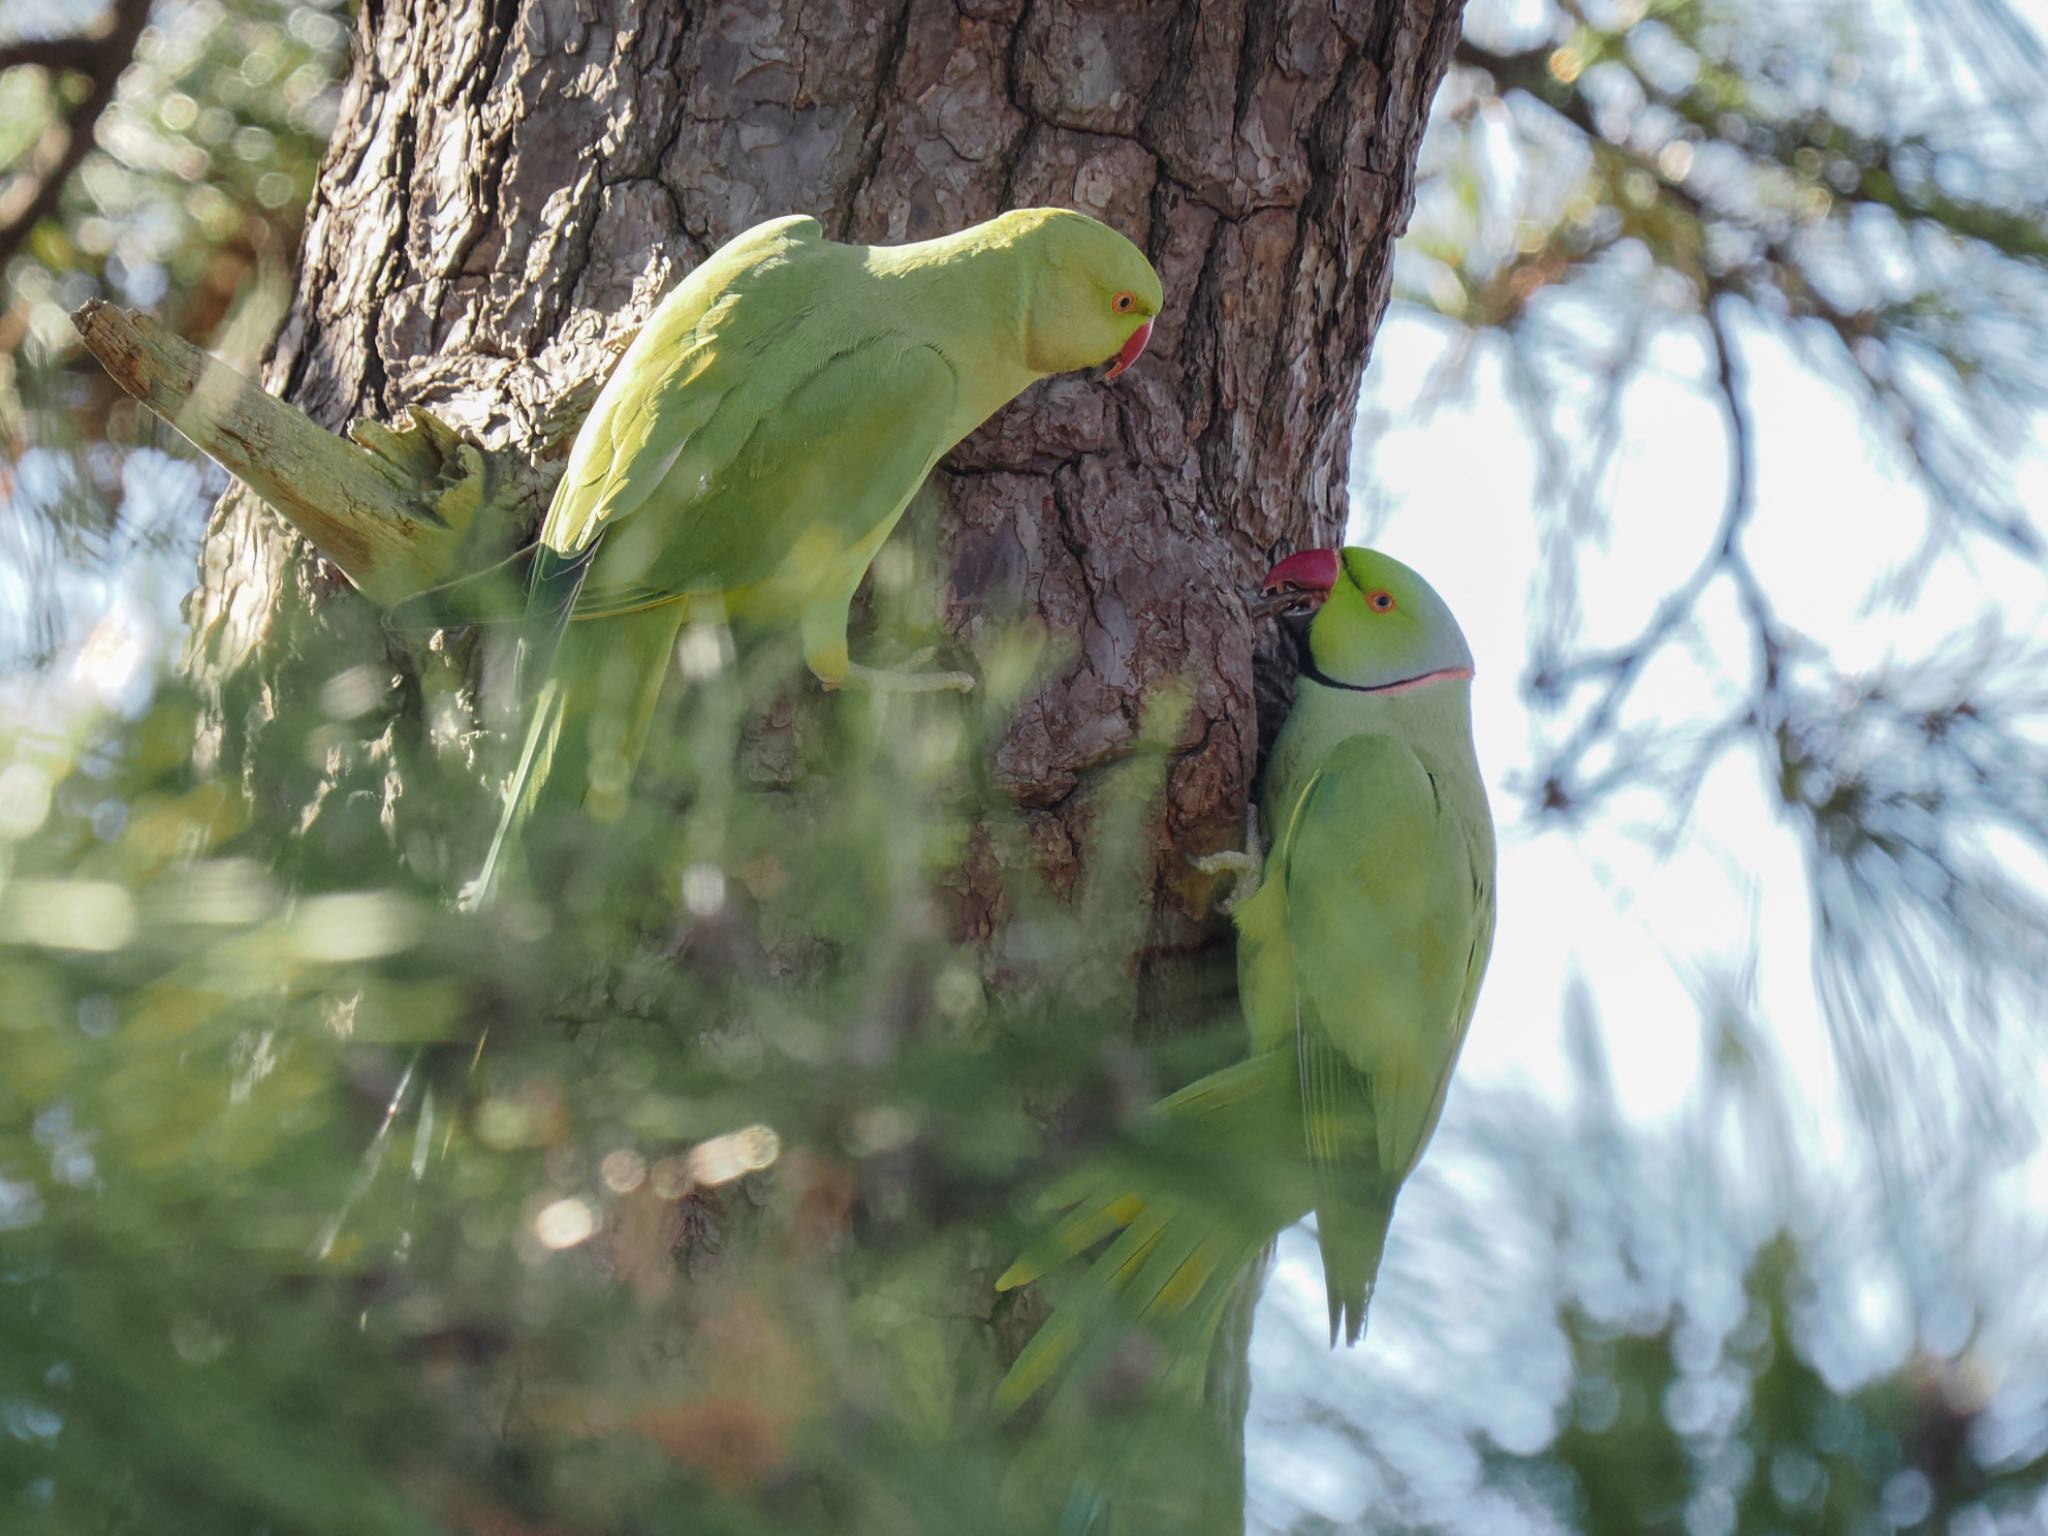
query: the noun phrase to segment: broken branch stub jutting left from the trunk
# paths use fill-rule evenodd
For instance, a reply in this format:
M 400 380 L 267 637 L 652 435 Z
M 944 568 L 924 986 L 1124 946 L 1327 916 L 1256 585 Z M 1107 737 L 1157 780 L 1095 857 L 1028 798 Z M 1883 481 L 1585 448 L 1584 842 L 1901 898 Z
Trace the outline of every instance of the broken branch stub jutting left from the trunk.
M 420 406 L 344 440 L 147 315 L 92 299 L 72 315 L 129 395 L 227 469 L 379 606 L 481 569 L 514 545 L 483 451 Z

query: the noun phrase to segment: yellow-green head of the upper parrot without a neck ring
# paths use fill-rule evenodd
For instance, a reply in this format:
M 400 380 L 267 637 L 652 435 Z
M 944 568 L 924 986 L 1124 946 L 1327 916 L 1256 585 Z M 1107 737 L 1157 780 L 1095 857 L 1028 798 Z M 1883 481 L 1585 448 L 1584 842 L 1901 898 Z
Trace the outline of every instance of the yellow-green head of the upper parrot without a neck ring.
M 1114 379 L 1151 340 L 1159 274 L 1143 250 L 1085 213 L 1028 209 L 1022 217 L 1016 246 L 1034 264 L 1024 360 L 1034 373 L 1108 362 L 1102 377 Z

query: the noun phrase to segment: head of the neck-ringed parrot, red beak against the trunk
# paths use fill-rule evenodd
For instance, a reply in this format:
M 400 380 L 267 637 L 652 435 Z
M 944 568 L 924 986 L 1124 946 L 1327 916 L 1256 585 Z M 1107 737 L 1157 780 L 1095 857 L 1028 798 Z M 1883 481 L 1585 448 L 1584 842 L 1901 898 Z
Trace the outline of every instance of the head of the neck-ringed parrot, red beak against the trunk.
M 1274 610 L 1313 612 L 1303 674 L 1337 688 L 1405 692 L 1473 676 L 1473 647 L 1436 588 L 1376 549 L 1305 549 L 1266 571 Z

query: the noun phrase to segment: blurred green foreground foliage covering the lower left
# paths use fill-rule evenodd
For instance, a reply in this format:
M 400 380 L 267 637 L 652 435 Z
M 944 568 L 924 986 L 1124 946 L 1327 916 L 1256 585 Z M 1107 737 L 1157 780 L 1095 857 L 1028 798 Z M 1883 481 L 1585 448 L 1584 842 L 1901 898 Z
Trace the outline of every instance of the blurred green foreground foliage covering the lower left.
M 178 688 L 12 737 L 6 1530 L 1042 1528 L 1057 1489 L 995 1497 L 1032 1319 L 991 1276 L 1028 1108 L 1161 1090 L 1122 956 L 1178 711 L 1090 791 L 1069 903 L 979 770 L 1026 633 L 965 702 L 684 651 L 627 819 L 537 827 L 547 881 L 475 915 L 432 866 L 487 797 L 401 858 L 424 823 L 360 788 L 395 705 L 346 668 L 264 737 L 332 774 L 317 815 L 195 776 Z

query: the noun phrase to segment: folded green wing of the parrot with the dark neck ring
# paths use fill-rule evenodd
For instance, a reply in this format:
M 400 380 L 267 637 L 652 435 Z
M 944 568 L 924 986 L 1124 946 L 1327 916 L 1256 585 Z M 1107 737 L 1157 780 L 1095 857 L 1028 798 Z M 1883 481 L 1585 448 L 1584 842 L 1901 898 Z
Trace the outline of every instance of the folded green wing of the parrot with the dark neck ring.
M 1354 1341 L 1493 934 L 1491 860 L 1458 803 L 1407 743 L 1354 735 L 1317 764 L 1280 850 L 1331 1331 Z

